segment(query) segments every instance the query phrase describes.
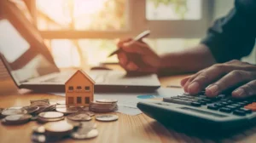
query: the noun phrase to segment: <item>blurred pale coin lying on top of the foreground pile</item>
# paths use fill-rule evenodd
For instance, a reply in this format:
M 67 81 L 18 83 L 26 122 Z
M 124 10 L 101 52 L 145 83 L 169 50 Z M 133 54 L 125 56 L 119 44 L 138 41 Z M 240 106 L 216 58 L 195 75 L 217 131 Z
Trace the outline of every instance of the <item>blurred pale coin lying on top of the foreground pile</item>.
M 73 125 L 66 121 L 46 123 L 44 125 L 45 131 L 54 133 L 66 133 L 73 130 Z

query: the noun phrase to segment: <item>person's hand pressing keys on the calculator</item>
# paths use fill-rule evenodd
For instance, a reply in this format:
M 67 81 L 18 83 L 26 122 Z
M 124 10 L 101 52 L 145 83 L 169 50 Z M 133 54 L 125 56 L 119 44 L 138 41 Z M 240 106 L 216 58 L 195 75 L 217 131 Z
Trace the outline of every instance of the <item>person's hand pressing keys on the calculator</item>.
M 206 94 L 209 97 L 235 88 L 232 90 L 232 96 L 245 98 L 256 94 L 256 66 L 231 60 L 186 77 L 181 81 L 181 85 L 189 94 L 198 94 L 206 88 Z

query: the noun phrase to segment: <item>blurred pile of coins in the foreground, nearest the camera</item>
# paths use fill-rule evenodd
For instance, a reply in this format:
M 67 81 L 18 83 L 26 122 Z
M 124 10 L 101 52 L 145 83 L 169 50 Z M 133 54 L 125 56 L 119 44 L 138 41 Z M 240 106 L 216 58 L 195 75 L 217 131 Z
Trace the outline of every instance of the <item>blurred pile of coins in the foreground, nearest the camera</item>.
M 85 122 L 75 126 L 67 121 L 46 123 L 35 127 L 32 132 L 32 141 L 34 142 L 54 142 L 60 141 L 64 137 L 83 140 L 94 138 L 98 135 L 96 123 Z

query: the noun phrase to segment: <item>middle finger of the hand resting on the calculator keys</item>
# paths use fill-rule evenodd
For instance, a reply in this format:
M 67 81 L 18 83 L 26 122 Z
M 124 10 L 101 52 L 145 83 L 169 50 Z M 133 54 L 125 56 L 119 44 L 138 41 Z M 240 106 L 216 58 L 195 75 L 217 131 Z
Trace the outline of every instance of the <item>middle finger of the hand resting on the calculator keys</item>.
M 241 83 L 247 83 L 248 81 L 252 80 L 253 77 L 254 76 L 251 74 L 251 72 L 244 72 L 239 70 L 232 71 L 224 77 L 220 78 L 216 83 L 208 86 L 206 89 L 206 94 L 210 97 L 216 96 L 226 89 L 230 89 Z

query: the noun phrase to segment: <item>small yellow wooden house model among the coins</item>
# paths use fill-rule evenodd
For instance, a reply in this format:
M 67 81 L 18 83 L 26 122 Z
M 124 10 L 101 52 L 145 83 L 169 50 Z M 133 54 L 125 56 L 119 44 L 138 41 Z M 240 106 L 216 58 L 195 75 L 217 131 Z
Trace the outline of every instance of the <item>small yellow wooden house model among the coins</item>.
M 89 106 L 94 100 L 95 82 L 85 72 L 79 70 L 65 83 L 67 106 Z

